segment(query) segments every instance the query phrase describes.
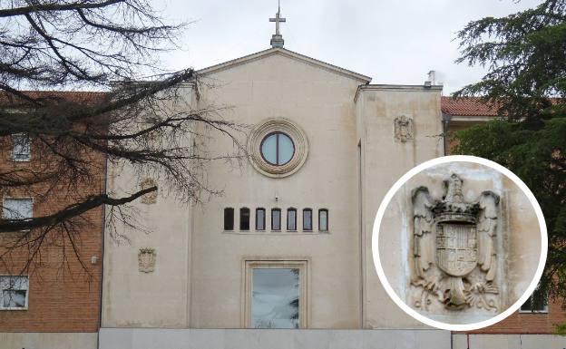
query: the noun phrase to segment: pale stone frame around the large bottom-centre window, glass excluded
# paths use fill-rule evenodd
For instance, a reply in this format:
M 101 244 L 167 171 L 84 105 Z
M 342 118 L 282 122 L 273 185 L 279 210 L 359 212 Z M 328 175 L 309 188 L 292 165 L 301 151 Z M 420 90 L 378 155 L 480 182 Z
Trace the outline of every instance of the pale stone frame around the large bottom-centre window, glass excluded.
M 274 268 L 274 269 L 298 269 L 299 282 L 298 282 L 298 328 L 305 329 L 308 327 L 310 312 L 308 311 L 310 294 L 308 283 L 310 281 L 310 259 L 308 257 L 300 258 L 244 258 L 242 268 L 242 311 L 241 311 L 241 325 L 243 328 L 254 328 L 251 325 L 251 292 L 253 291 L 253 269 L 254 268 Z M 254 328 L 261 330 L 261 328 Z

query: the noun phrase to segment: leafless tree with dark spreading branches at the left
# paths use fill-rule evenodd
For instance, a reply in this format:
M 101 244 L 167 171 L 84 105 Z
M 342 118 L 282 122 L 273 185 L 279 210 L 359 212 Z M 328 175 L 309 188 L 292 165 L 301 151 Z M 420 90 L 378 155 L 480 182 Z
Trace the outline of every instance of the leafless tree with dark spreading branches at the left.
M 26 251 L 23 270 L 36 266 L 45 245 L 62 248 L 63 263 L 66 251 L 83 263 L 81 231 L 103 206 L 109 222 L 135 226 L 124 208 L 157 187 L 106 193 L 108 162 L 159 173 L 187 202 L 218 194 L 199 169 L 245 158 L 237 134 L 244 126 L 220 108 L 185 101 L 184 89 L 200 88 L 193 69 L 161 69 L 161 53 L 178 47 L 184 26 L 165 24 L 146 0 L 0 0 L 0 197 L 33 197 L 46 207 L 33 218 L 4 207 L 0 267 L 18 249 Z M 185 141 L 204 133 L 229 137 L 234 148 L 213 157 L 203 143 Z M 10 150 L 27 140 L 33 159 L 10 161 Z

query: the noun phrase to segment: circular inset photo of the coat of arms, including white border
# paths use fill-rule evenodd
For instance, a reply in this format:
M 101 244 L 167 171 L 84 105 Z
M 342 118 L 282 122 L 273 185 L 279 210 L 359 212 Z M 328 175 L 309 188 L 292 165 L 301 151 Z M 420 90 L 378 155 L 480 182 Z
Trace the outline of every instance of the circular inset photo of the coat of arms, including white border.
M 528 300 L 542 275 L 542 210 L 510 170 L 471 156 L 429 160 L 385 195 L 373 232 L 385 291 L 426 325 L 470 331 Z

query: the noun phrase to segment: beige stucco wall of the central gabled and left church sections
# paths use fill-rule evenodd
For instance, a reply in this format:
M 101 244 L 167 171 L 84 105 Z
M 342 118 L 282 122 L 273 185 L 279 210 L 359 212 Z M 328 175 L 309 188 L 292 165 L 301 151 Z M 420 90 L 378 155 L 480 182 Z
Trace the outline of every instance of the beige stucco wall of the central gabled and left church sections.
M 253 125 L 287 118 L 307 135 L 307 161 L 294 175 L 272 179 L 247 161 L 210 163 L 206 181 L 220 197 L 187 209 L 160 196 L 141 206 L 150 234 L 128 234 L 130 244 L 108 239 L 103 326 L 239 328 L 243 322 L 243 260 L 306 259 L 307 326 L 360 326 L 360 262 L 356 219 L 356 119 L 354 95 L 361 83 L 343 73 L 281 54 L 206 74 L 198 107 L 219 106 L 227 120 Z M 249 131 L 250 129 L 248 129 Z M 205 130 L 200 130 L 205 131 Z M 233 150 L 227 138 L 208 140 L 210 156 Z M 246 135 L 239 135 L 245 144 Z M 207 140 L 198 140 L 207 141 Z M 111 190 L 135 185 L 127 169 L 111 165 Z M 119 177 L 116 175 L 120 174 Z M 276 202 L 275 197 L 278 196 Z M 329 210 L 327 233 L 225 233 L 223 208 Z M 191 213 L 192 212 L 192 213 Z M 190 220 L 190 217 L 194 220 Z M 285 215 L 283 214 L 283 217 Z M 236 219 L 236 227 L 239 225 Z M 269 225 L 269 220 L 267 221 Z M 156 247 L 157 269 L 137 270 L 139 247 Z M 159 298 L 156 298 L 159 297 Z

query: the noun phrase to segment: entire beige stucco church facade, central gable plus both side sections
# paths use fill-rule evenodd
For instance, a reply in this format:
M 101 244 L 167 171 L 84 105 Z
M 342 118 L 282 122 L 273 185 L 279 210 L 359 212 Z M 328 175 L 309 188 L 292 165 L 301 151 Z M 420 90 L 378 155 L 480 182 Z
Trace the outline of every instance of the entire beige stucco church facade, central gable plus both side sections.
M 155 205 L 136 204 L 151 233 L 105 244 L 102 326 L 245 327 L 245 260 L 306 260 L 302 305 L 308 328 L 421 326 L 385 295 L 371 258 L 371 228 L 385 191 L 424 160 L 442 155 L 440 88 L 366 85 L 336 67 L 274 52 L 204 73 L 198 108 L 220 107 L 226 120 L 251 127 L 285 118 L 304 131 L 307 160 L 293 175 L 267 177 L 248 160 L 213 161 L 206 183 L 223 190 L 190 208 L 164 192 Z M 414 140 L 394 139 L 394 119 L 414 120 Z M 209 156 L 234 144 L 218 133 Z M 238 139 L 246 144 L 246 134 Z M 357 145 L 361 145 L 361 158 Z M 361 159 L 361 165 L 360 165 Z M 128 190 L 139 179 L 110 166 L 109 189 Z M 361 179 L 361 182 L 360 182 Z M 276 197 L 278 198 L 276 200 Z M 235 231 L 223 231 L 223 209 L 235 208 Z M 251 229 L 239 232 L 239 208 L 250 208 Z M 254 231 L 255 208 L 298 209 L 298 232 Z M 363 207 L 363 208 L 362 208 Z M 302 232 L 302 208 L 313 208 L 314 232 Z M 317 232 L 317 210 L 329 211 L 329 231 Z M 269 216 L 269 214 L 268 214 Z M 361 227 L 360 227 L 361 226 Z M 156 247 L 156 271 L 138 271 L 140 247 Z

